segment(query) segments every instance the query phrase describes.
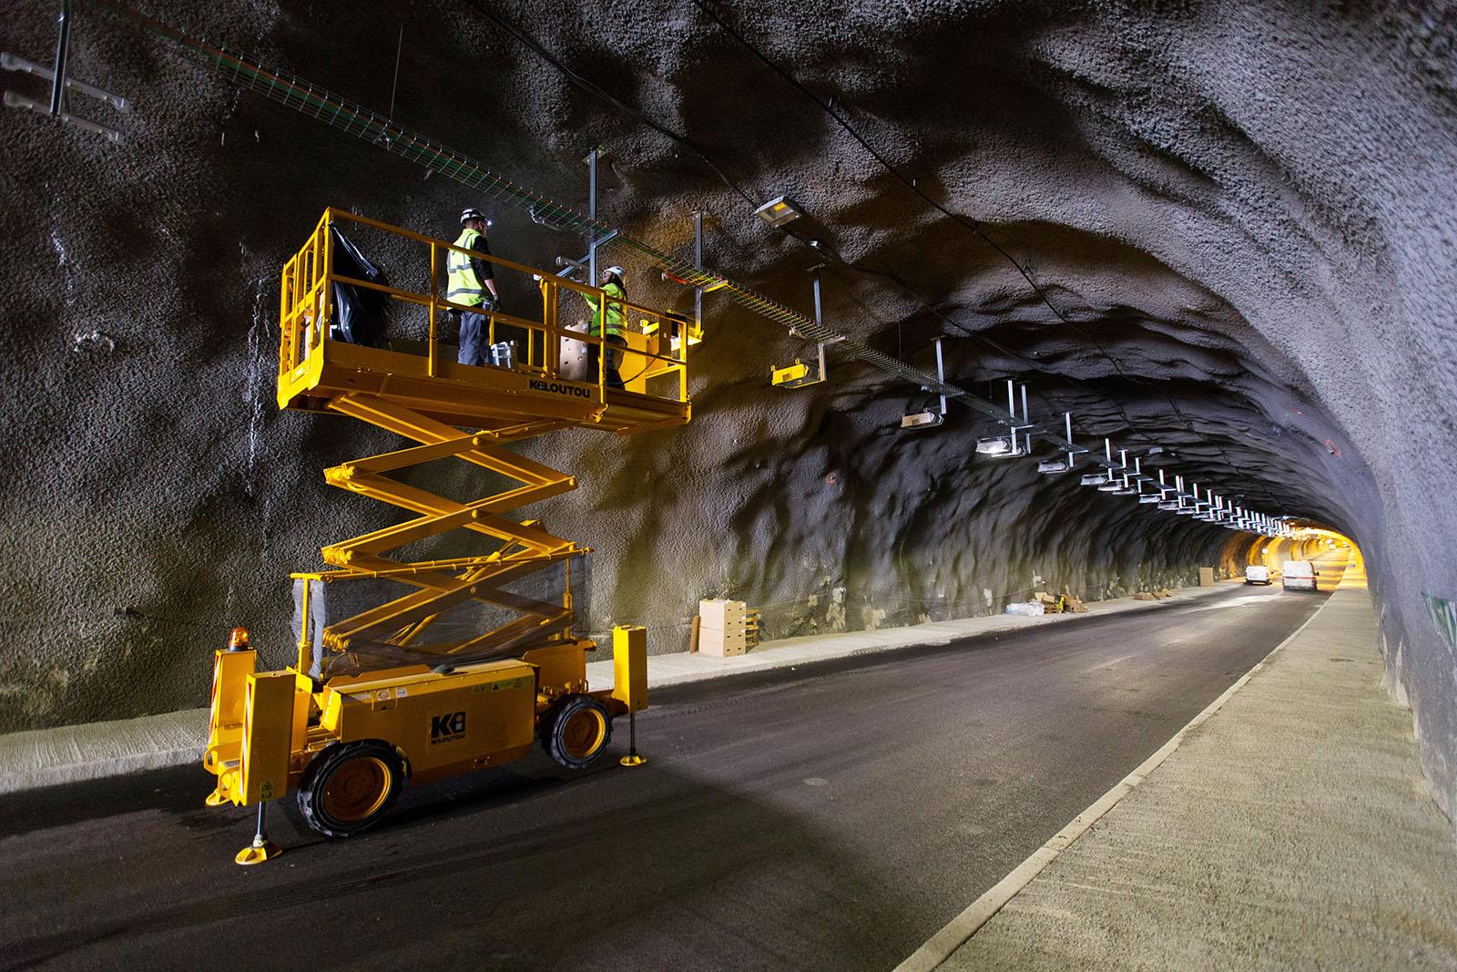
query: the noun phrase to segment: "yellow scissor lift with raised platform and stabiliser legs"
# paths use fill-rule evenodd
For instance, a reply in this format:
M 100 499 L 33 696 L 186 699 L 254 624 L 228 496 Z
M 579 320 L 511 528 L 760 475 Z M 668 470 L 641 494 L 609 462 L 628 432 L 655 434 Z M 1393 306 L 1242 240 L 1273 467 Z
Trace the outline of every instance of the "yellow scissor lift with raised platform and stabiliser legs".
M 385 284 L 337 273 L 341 226 L 369 238 L 364 251 L 389 254 L 392 271 L 402 262 L 407 277 Z M 393 259 L 411 251 L 418 259 Z M 440 294 L 449 251 L 490 261 L 498 278 L 538 281 L 539 319 L 490 315 L 490 342 L 510 335 L 522 350 L 510 361 L 457 364 L 443 342 L 447 312 L 472 310 Z M 335 338 L 341 293 L 390 309 L 388 347 Z M 602 341 L 562 324 L 573 294 L 619 303 L 635 325 L 619 366 L 627 389 L 606 386 L 602 354 L 594 375 L 580 373 L 583 348 Z M 507 446 L 564 428 L 632 434 L 686 423 L 688 345 L 699 337 L 682 318 L 613 302 L 596 287 L 334 208 L 284 267 L 280 331 L 281 408 L 348 415 L 418 443 L 334 466 L 325 479 L 414 516 L 325 546 L 331 570 L 293 574 L 294 665 L 258 672 L 242 630 L 216 653 L 203 762 L 217 788 L 208 803 L 259 806 L 258 836 L 239 863 L 277 853 L 262 832 L 268 800 L 297 793 L 310 826 L 344 836 L 374 823 L 407 778 L 511 762 L 538 739 L 561 765 L 584 767 L 606 748 L 615 716 L 647 707 L 643 628 L 613 628 L 613 688 L 587 685 L 586 653 L 597 646 L 573 632 L 573 581 L 589 548 L 508 516 L 576 488 L 576 477 Z M 462 503 L 388 475 L 441 459 L 519 485 Z M 450 530 L 488 549 L 388 557 Z M 338 597 L 344 586 L 364 593 Z M 380 596 L 379 587 L 392 590 Z M 356 611 L 335 619 L 345 612 L 321 611 L 325 602 Z

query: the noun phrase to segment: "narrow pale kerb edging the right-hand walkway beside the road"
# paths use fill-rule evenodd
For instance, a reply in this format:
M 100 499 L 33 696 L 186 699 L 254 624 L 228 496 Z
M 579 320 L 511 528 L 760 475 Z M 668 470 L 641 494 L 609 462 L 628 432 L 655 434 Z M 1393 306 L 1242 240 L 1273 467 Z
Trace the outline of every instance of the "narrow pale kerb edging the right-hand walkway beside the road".
M 1113 788 L 1100 796 L 1093 806 L 1072 818 L 1071 823 L 1053 834 L 1046 844 L 1033 851 L 1032 855 L 1018 864 L 1010 874 L 1002 877 L 981 898 L 973 901 L 962 914 L 951 918 L 944 928 L 931 936 L 925 944 L 911 953 L 905 962 L 898 965 L 896 972 L 930 972 L 930 969 L 935 969 L 943 962 L 950 959 L 953 952 L 970 941 L 972 936 L 981 931 L 982 925 L 992 920 L 992 915 L 1001 911 L 1008 901 L 1016 898 L 1023 887 L 1030 885 L 1032 879 L 1036 877 L 1043 867 L 1055 861 L 1062 851 L 1072 847 L 1074 841 L 1097 823 L 1104 813 L 1118 806 L 1119 800 L 1132 793 L 1134 788 L 1141 784 L 1148 774 L 1157 769 L 1174 749 L 1179 749 L 1179 743 L 1183 742 L 1183 737 L 1189 732 L 1198 729 L 1205 723 L 1205 720 L 1220 711 L 1236 692 L 1244 688 L 1244 683 L 1249 682 L 1256 672 L 1263 669 L 1265 665 L 1275 657 L 1276 651 L 1298 638 L 1301 632 L 1320 616 L 1320 612 L 1324 611 L 1329 603 L 1330 600 L 1327 599 L 1323 605 L 1316 608 L 1316 611 L 1305 618 L 1303 625 L 1295 628 L 1288 638 L 1271 648 L 1269 654 L 1256 662 L 1249 672 L 1241 675 L 1234 682 L 1234 685 L 1224 689 L 1224 694 L 1209 702 L 1202 713 L 1190 718 L 1189 723 L 1174 733 L 1169 742 L 1160 746 L 1152 756 L 1138 764 L 1138 768 L 1134 769 L 1134 772 L 1118 781 Z

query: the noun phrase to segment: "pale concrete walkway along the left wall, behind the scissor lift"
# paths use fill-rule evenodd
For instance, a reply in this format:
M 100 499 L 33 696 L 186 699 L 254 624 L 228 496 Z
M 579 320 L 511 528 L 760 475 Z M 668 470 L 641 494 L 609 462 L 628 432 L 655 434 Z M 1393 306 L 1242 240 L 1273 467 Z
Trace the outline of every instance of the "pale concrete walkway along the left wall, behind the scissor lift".
M 1043 615 L 1040 618 L 992 615 L 919 624 L 908 628 L 784 638 L 765 641 L 749 654 L 730 659 L 686 651 L 653 654 L 647 660 L 647 678 L 650 689 L 663 688 L 871 651 L 946 644 L 956 638 L 1013 631 L 1039 624 L 1059 624 L 1090 615 L 1158 611 L 1164 605 L 1185 603 L 1190 597 L 1209 596 L 1218 590 L 1228 590 L 1228 584 L 1220 584 L 1214 589 L 1186 587 L 1176 592 L 1173 597 L 1157 602 L 1134 597 L 1093 602 L 1088 605 L 1087 615 Z M 593 688 L 610 688 L 612 659 L 587 665 L 587 681 Z M 0 736 L 0 793 L 176 767 L 201 761 L 205 745 L 205 708 L 10 733 Z

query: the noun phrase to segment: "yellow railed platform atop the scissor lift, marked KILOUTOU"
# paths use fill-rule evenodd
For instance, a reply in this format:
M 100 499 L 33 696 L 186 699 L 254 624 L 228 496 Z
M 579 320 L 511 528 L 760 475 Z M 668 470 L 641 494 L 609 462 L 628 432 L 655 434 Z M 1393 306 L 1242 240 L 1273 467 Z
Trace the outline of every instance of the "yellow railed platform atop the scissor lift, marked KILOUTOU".
M 332 248 L 341 224 L 428 248 L 425 287 L 407 290 L 334 273 Z M 536 319 L 492 312 L 488 342 L 506 334 L 522 338 L 523 354 L 506 367 L 457 364 L 453 345 L 441 337 L 452 312 L 478 312 L 446 300 L 439 290 L 439 267 L 446 254 L 469 254 L 497 271 L 530 275 L 541 291 Z M 424 261 L 421 261 L 424 262 Z M 414 331 L 392 325 L 393 347 L 366 347 L 331 340 L 334 294 L 354 287 L 383 294 L 392 309 L 415 307 Z M 570 350 L 602 345 L 600 337 L 562 322 L 571 296 L 599 302 L 628 324 L 628 348 L 619 372 L 631 376 L 625 389 L 608 386 L 602 356 L 594 375 L 573 375 L 565 366 Z M 548 271 L 462 249 L 386 223 L 341 210 L 328 210 L 313 236 L 288 262 L 280 294 L 278 405 L 323 411 L 342 395 L 370 395 L 450 426 L 517 424 L 527 420 L 564 423 L 583 428 L 635 433 L 680 426 L 691 418 L 688 399 L 688 347 L 696 341 L 695 325 L 664 310 L 616 300 Z

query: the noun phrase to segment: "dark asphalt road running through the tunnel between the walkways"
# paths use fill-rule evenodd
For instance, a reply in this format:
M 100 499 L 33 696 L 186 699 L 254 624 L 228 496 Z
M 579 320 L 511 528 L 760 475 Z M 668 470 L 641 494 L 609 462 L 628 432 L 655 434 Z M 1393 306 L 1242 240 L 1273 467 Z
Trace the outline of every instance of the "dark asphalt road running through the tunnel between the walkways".
M 409 788 L 356 838 L 275 810 L 259 867 L 201 767 L 0 797 L 0 968 L 886 969 L 1326 597 L 1227 587 L 661 689 L 645 767 L 619 720 L 593 769 Z

